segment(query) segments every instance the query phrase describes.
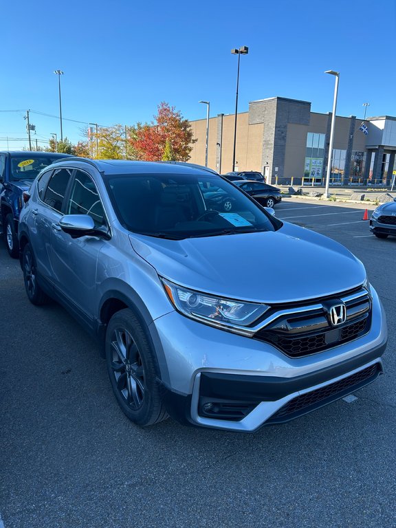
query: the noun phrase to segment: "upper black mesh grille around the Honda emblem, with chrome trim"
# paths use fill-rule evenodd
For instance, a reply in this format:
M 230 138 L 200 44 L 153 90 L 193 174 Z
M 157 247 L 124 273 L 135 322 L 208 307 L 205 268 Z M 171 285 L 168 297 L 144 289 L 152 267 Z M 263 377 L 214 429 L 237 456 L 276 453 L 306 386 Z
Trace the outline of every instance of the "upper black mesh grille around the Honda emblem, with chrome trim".
M 347 307 L 347 320 L 333 327 L 328 309 L 337 302 Z M 325 351 L 364 336 L 371 325 L 371 298 L 366 290 L 358 296 L 333 298 L 321 305 L 307 305 L 306 311 L 276 312 L 271 322 L 254 334 L 254 338 L 273 344 L 291 358 Z M 286 313 L 285 313 L 286 312 Z

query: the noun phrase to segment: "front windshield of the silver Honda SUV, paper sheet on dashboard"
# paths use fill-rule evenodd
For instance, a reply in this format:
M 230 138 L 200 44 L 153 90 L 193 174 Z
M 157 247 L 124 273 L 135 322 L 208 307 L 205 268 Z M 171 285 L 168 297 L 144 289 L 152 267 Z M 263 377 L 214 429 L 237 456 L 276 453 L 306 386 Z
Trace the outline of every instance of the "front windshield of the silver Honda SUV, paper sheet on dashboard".
M 106 185 L 118 219 L 132 232 L 185 239 L 282 225 L 215 175 L 111 175 Z

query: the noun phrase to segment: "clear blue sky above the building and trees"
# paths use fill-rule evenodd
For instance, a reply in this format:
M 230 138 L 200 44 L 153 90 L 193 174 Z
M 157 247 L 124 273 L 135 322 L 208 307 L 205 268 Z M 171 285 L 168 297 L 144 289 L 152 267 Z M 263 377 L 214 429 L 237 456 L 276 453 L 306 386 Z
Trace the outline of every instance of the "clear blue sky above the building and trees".
M 1 8 L 0 148 L 25 137 L 24 110 L 82 122 L 151 121 L 157 104 L 185 118 L 233 113 L 237 57 L 239 111 L 252 100 L 283 96 L 331 111 L 340 72 L 338 115 L 396 116 L 396 1 L 186 2 L 31 0 Z M 21 110 L 13 112 L 13 110 Z M 32 113 L 33 139 L 59 133 L 59 120 Z M 83 124 L 64 121 L 63 135 L 81 139 Z M 26 141 L 9 141 L 21 148 Z

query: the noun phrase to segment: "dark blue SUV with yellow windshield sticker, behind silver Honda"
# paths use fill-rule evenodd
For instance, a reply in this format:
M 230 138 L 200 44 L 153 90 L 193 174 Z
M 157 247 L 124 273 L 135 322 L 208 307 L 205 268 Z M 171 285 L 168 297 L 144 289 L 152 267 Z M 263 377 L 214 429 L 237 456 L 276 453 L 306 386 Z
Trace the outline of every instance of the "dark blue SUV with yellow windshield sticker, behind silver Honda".
M 52 152 L 0 152 L 0 230 L 3 230 L 8 253 L 19 256 L 18 221 L 23 206 L 23 191 L 48 165 L 69 154 Z

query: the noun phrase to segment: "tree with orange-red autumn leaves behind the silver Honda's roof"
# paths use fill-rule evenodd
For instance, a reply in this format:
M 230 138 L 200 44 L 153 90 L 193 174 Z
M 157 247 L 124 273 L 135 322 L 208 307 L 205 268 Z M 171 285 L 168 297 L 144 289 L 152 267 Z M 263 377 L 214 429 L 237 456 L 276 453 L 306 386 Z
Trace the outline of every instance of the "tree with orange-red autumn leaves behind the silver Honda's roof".
M 167 102 L 159 104 L 151 124 L 137 124 L 129 138 L 138 159 L 148 162 L 160 161 L 164 155 L 168 157 L 169 151 L 175 161 L 186 162 L 196 141 L 192 139 L 188 120 Z

